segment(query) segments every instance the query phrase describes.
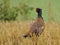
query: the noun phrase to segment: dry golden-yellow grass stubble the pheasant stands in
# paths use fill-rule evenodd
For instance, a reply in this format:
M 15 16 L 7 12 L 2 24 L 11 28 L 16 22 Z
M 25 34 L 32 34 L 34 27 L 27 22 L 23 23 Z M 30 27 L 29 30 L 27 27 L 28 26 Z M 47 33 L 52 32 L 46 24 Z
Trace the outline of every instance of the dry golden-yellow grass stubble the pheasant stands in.
M 0 22 L 0 45 L 60 45 L 60 24 L 46 23 L 42 35 L 23 38 L 32 22 Z

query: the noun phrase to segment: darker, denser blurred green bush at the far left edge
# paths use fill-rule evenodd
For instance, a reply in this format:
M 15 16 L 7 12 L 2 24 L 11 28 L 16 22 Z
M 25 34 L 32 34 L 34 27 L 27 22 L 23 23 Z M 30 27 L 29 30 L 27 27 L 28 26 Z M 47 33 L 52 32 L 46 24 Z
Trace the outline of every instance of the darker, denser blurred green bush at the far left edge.
M 0 20 L 16 20 L 17 14 L 14 12 L 10 8 L 10 0 L 3 0 L 3 3 L 0 4 Z

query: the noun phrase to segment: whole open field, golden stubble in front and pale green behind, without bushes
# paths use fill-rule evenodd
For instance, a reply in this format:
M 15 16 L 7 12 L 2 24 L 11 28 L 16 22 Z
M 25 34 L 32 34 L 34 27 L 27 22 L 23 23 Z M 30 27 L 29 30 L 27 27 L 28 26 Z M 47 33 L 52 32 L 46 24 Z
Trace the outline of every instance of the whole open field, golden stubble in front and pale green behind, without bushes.
M 31 20 L 36 19 L 35 9 L 42 8 L 45 30 L 39 37 L 23 38 L 22 35 L 29 31 L 33 21 L 20 22 L 19 14 L 19 22 L 0 21 L 0 45 L 60 45 L 60 0 L 10 0 L 11 7 L 19 7 L 20 3 L 34 8 L 29 14 Z

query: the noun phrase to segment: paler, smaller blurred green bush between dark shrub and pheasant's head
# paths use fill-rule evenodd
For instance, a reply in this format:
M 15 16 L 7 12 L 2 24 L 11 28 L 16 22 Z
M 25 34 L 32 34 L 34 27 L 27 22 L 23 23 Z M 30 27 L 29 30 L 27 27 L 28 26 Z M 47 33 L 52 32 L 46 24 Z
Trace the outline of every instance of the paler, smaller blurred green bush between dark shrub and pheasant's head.
M 25 3 L 20 3 L 20 14 L 23 16 L 24 20 L 28 20 L 29 18 L 29 14 L 31 13 L 30 11 L 33 10 L 33 7 L 29 7 L 27 4 Z

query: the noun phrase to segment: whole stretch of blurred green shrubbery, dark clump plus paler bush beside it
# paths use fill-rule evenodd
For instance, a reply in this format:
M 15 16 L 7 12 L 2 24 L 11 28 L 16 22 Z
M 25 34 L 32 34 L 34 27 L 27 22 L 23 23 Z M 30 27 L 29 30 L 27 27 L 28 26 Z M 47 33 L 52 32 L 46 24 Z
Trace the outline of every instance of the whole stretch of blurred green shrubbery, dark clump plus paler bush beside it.
M 0 3 L 0 20 L 15 21 L 18 14 L 22 16 L 24 20 L 28 20 L 28 14 L 33 10 L 33 7 L 29 7 L 27 4 L 20 3 L 17 7 L 10 8 L 10 0 L 3 0 Z

